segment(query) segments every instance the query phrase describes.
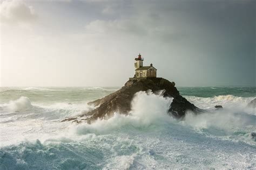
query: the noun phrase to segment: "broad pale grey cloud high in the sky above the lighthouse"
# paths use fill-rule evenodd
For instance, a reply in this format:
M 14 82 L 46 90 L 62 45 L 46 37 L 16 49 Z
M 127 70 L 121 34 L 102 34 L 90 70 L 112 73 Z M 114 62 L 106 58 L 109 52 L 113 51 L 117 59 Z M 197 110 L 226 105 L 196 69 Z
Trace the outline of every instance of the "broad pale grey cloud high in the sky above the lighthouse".
M 177 41 L 187 36 L 184 30 L 150 12 L 138 13 L 130 18 L 96 19 L 85 26 L 85 31 L 97 36 L 112 36 L 111 39 L 126 37 L 163 42 Z

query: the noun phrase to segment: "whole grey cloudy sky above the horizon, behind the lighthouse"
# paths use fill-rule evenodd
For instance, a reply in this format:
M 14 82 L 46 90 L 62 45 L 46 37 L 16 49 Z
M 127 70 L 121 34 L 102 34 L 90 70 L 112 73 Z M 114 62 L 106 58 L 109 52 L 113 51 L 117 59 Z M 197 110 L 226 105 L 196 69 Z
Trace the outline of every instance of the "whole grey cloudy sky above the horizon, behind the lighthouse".
M 249 0 L 0 0 L 1 86 L 123 86 L 134 58 L 177 86 L 255 86 Z

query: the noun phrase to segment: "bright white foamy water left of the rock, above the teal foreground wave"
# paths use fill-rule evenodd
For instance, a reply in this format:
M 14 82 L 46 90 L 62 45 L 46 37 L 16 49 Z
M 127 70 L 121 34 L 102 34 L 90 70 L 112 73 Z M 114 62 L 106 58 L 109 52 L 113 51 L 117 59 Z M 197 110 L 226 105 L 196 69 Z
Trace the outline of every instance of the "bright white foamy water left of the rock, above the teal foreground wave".
M 65 117 L 81 115 L 94 107 L 85 104 L 32 104 L 28 97 L 2 104 L 0 110 L 0 146 L 18 144 L 23 140 L 42 141 L 61 138 L 69 123 L 60 123 Z M 39 135 L 40 134 L 40 135 Z

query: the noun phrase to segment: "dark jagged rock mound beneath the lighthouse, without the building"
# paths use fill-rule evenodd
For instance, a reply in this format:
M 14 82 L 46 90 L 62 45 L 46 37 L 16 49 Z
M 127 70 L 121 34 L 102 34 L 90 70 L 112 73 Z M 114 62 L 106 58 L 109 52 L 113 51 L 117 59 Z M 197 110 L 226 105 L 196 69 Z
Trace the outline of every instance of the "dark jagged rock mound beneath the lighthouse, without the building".
M 158 93 L 159 90 L 164 90 L 164 97 L 173 97 L 169 114 L 174 117 L 184 117 L 187 110 L 191 110 L 195 113 L 203 112 L 202 109 L 195 107 L 194 104 L 188 102 L 186 98 L 180 96 L 174 82 L 170 82 L 163 78 L 148 78 L 142 80 L 129 80 L 120 90 L 99 100 L 89 102 L 88 104 L 95 105 L 98 108 L 87 114 L 81 115 L 80 117 L 91 116 L 90 118 L 87 118 L 87 122 L 91 123 L 98 118 L 107 119 L 113 116 L 114 112 L 127 115 L 131 111 L 131 101 L 134 94 L 138 91 L 147 90 L 152 90 L 153 93 Z

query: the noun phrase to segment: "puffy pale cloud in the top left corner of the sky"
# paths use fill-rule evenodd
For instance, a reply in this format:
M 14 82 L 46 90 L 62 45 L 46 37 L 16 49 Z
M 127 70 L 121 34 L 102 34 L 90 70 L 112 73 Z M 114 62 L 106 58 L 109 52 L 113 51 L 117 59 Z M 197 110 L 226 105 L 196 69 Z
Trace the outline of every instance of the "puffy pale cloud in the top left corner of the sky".
M 0 4 L 0 17 L 2 22 L 24 24 L 35 21 L 37 15 L 33 7 L 23 1 L 6 0 Z

